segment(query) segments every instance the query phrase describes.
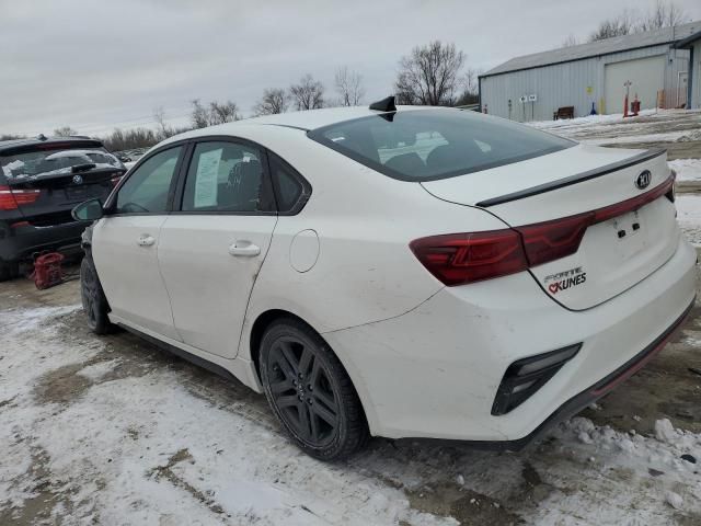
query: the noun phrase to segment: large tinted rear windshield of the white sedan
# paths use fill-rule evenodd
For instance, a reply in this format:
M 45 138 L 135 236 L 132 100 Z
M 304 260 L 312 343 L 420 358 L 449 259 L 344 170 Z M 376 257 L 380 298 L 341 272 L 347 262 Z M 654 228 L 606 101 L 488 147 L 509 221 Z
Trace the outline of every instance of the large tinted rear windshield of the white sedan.
M 403 181 L 462 175 L 576 144 L 510 121 L 445 108 L 361 117 L 314 129 L 309 137 Z

